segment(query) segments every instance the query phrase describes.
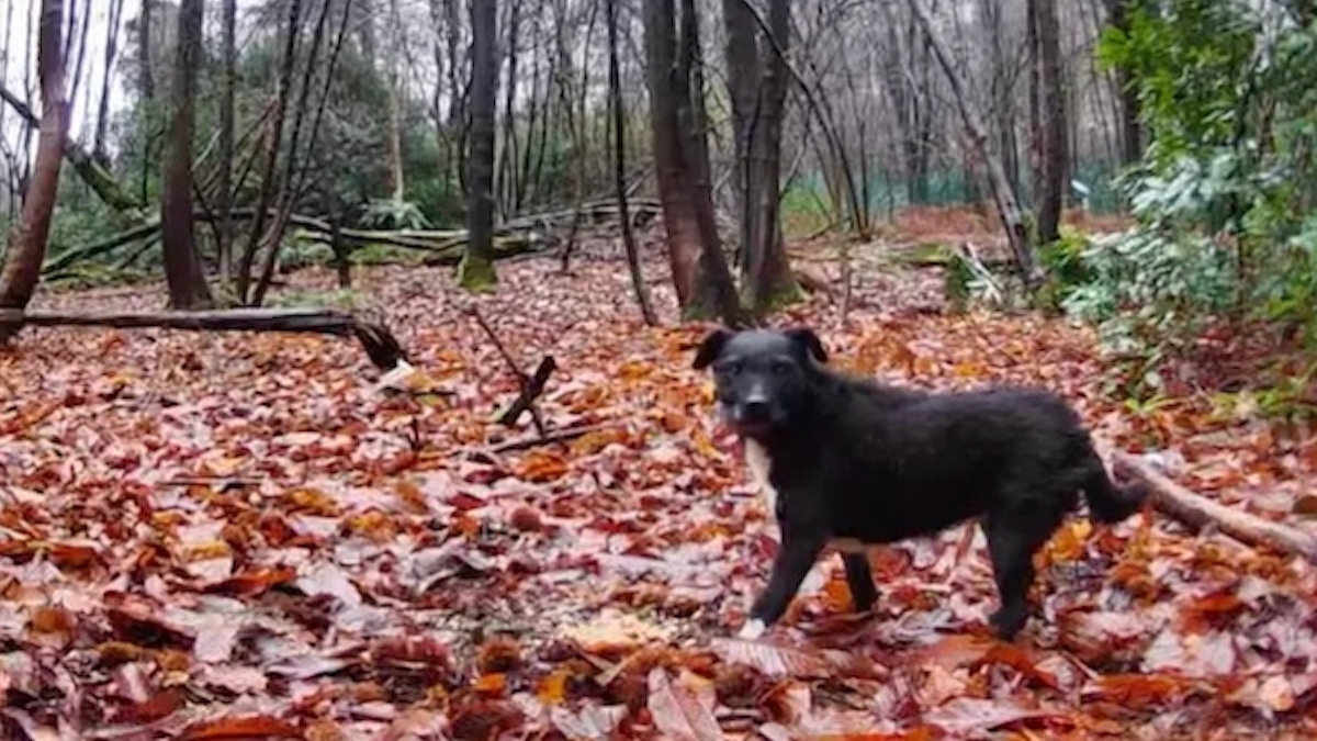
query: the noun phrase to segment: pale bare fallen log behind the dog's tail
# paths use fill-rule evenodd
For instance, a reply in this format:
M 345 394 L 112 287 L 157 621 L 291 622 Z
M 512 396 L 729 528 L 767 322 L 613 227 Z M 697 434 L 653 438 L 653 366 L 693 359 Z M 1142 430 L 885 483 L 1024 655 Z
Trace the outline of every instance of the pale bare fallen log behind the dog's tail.
M 1176 484 L 1144 460 L 1126 452 L 1112 454 L 1113 472 L 1148 488 L 1152 506 L 1163 514 L 1201 530 L 1216 526 L 1226 535 L 1250 546 L 1263 546 L 1317 563 L 1317 538 L 1280 522 L 1263 519 Z

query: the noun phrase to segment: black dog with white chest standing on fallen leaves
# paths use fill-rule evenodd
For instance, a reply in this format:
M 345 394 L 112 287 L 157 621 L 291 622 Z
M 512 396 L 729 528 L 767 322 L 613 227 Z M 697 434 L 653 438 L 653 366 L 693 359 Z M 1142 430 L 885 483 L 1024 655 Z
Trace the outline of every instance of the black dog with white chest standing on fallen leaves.
M 1027 620 L 1033 555 L 1079 492 L 1102 522 L 1125 519 L 1146 496 L 1112 481 L 1079 415 L 1050 392 L 935 394 L 849 377 L 826 361 L 807 328 L 715 330 L 695 355 L 697 369 L 712 365 L 719 410 L 745 442 L 781 529 L 744 638 L 781 618 L 827 546 L 842 551 L 863 612 L 877 599 L 867 545 L 981 517 L 1001 597 L 992 624 L 1010 641 Z

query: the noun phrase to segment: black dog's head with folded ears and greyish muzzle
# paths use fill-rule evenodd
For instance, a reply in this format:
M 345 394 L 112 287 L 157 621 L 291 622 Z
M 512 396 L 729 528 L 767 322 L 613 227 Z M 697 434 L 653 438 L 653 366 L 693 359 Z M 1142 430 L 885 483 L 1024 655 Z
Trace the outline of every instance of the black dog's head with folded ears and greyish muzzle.
M 699 344 L 694 368 L 712 367 L 723 419 L 741 436 L 764 438 L 789 425 L 809 402 L 820 363 L 827 363 L 827 352 L 806 327 L 718 328 Z

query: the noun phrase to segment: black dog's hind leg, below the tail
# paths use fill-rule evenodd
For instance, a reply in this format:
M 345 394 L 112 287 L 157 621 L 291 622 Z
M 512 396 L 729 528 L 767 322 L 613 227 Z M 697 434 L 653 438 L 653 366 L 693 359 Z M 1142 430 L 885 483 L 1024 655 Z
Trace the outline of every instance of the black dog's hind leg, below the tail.
M 1029 620 L 1029 587 L 1034 583 L 1034 552 L 1060 525 L 1064 513 L 1038 500 L 994 509 L 984 518 L 988 554 L 1001 607 L 989 618 L 997 637 L 1013 641 Z

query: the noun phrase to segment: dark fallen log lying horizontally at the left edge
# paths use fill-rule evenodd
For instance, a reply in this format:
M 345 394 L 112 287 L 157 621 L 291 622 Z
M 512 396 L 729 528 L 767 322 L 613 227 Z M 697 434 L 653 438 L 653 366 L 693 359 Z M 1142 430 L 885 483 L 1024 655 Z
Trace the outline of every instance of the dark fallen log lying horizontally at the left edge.
M 213 311 L 24 311 L 0 309 L 0 327 L 163 328 L 194 332 L 313 332 L 353 336 L 370 363 L 391 370 L 407 360 L 387 327 L 332 309 L 227 309 Z

